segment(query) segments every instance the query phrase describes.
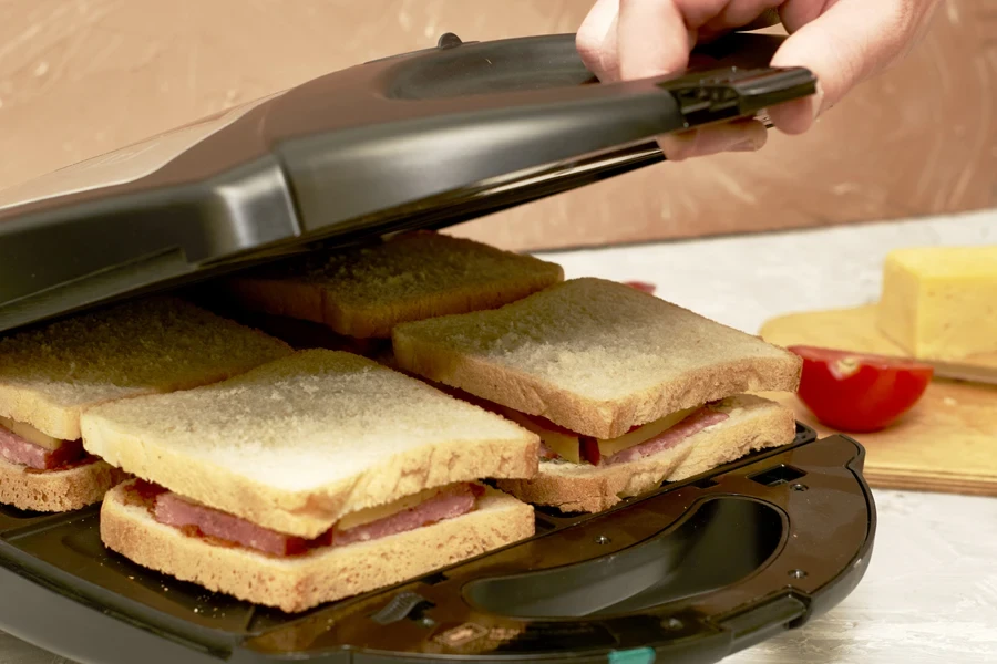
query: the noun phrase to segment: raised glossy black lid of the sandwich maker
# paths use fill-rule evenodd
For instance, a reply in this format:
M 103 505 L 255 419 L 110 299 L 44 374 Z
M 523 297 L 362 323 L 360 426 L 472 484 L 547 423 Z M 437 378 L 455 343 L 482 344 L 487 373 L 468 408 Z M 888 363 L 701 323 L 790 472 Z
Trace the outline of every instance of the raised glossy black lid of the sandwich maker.
M 814 91 L 733 34 L 698 73 L 595 84 L 574 35 L 369 62 L 0 190 L 0 332 L 220 270 L 439 228 L 662 158 L 656 135 Z

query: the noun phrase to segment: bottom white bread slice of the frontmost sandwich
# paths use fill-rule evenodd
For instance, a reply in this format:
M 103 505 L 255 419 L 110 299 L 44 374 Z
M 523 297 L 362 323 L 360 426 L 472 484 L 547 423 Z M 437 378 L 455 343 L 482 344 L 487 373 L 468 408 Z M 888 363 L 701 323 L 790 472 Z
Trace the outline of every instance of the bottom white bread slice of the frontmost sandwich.
M 101 539 L 153 570 L 240 600 L 298 612 L 419 577 L 534 533 L 533 508 L 486 489 L 462 517 L 346 547 L 278 558 L 185 535 L 157 522 L 127 484 L 101 507 Z

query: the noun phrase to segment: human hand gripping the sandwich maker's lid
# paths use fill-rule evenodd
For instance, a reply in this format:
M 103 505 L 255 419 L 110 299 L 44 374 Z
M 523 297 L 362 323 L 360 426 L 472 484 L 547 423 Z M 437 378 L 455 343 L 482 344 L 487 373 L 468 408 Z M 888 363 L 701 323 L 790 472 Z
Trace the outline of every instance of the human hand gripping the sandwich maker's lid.
M 772 124 L 802 134 L 818 115 L 865 79 L 906 55 L 938 0 L 597 0 L 578 29 L 585 65 L 600 81 L 679 72 L 697 43 L 778 10 L 789 39 L 772 66 L 803 66 L 816 94 L 769 108 Z M 767 138 L 757 121 L 709 125 L 658 139 L 670 160 L 727 151 L 757 151 Z

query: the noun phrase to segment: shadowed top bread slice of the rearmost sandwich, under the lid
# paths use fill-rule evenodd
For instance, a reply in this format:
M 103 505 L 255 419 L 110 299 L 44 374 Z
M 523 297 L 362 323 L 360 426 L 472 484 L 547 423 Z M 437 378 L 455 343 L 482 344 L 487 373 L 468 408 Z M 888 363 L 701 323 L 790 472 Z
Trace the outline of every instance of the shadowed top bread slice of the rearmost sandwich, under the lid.
M 388 339 L 398 323 L 494 309 L 564 279 L 556 263 L 435 232 L 295 258 L 229 279 L 233 303 Z

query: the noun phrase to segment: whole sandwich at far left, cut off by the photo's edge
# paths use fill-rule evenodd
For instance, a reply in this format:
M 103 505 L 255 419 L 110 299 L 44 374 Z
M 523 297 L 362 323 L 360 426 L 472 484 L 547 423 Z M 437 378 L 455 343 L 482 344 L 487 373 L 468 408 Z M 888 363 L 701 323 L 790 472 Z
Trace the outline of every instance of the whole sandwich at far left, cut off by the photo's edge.
M 70 511 L 123 476 L 88 453 L 97 404 L 222 381 L 291 352 L 175 298 L 151 298 L 0 338 L 0 504 Z

